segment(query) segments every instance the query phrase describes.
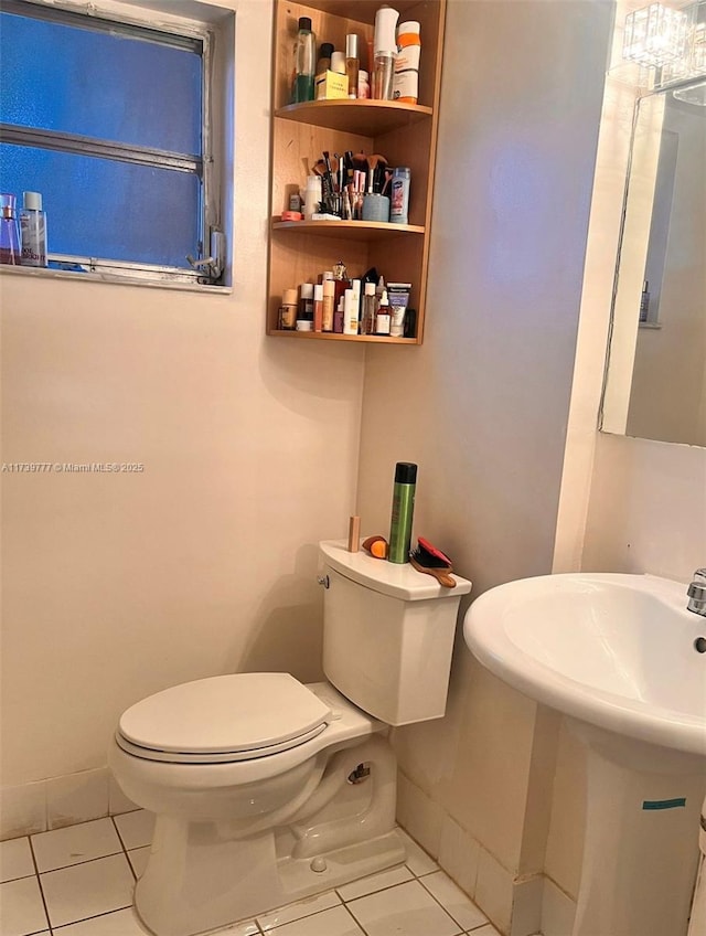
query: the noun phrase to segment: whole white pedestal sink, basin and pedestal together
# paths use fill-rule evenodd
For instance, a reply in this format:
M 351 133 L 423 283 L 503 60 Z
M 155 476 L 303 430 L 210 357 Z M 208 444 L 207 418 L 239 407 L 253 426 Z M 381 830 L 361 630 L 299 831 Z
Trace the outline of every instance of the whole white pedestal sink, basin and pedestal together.
M 524 578 L 477 598 L 463 635 L 587 747 L 571 936 L 685 936 L 706 793 L 706 617 L 686 610 L 686 586 L 619 573 Z

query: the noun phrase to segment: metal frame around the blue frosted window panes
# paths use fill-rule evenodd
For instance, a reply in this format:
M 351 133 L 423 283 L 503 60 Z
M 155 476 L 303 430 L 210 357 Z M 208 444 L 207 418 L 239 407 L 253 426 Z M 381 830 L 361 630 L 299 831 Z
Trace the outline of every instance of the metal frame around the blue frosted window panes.
M 49 252 L 49 259 L 65 264 L 78 264 L 83 272 L 67 272 L 39 267 L 4 267 L 18 273 L 32 275 L 68 276 L 75 279 L 129 281 L 146 286 L 204 287 L 217 289 L 229 286 L 232 272 L 226 256 L 226 238 L 224 232 L 224 215 L 231 212 L 221 203 L 223 193 L 229 192 L 231 187 L 224 184 L 222 177 L 223 159 L 221 146 L 214 145 L 218 134 L 218 124 L 214 123 L 214 99 L 221 98 L 216 83 L 226 73 L 223 46 L 218 43 L 221 54 L 216 55 L 216 38 L 218 24 L 212 21 L 213 15 L 206 15 L 214 8 L 210 4 L 193 2 L 194 12 L 204 12 L 204 20 L 176 17 L 164 11 L 163 4 L 139 4 L 121 2 L 98 2 L 86 4 L 82 0 L 3 0 L 3 12 L 17 12 L 23 15 L 35 15 L 53 22 L 76 24 L 77 18 L 92 19 L 95 25 L 101 28 L 103 22 L 119 23 L 129 32 L 133 26 L 136 33 L 140 30 L 174 36 L 174 44 L 189 45 L 195 42 L 202 44 L 202 156 L 201 159 L 185 159 L 183 155 L 170 153 L 164 150 L 148 147 L 135 147 L 110 141 L 93 140 L 77 135 L 45 130 L 25 129 L 0 125 L 0 136 L 3 142 L 14 142 L 25 146 L 45 146 L 53 150 L 84 153 L 87 156 L 108 156 L 120 161 L 141 163 L 157 167 L 172 167 L 182 171 L 199 171 L 202 178 L 202 205 L 200 216 L 201 252 L 196 258 L 190 257 L 192 268 L 186 266 L 171 267 L 138 262 L 111 260 L 101 257 L 85 257 Z M 32 10 L 32 8 L 34 8 Z M 221 17 L 233 11 L 218 10 Z M 108 29 L 108 26 L 106 26 Z M 181 40 L 181 42 L 180 42 Z M 225 52 L 227 57 L 227 52 Z M 216 59 L 218 61 L 216 62 Z M 229 123 L 229 121 L 227 121 Z M 51 243 L 50 243 L 51 247 Z M 229 253 L 229 252 L 228 252 Z M 228 290 L 229 291 L 229 290 Z

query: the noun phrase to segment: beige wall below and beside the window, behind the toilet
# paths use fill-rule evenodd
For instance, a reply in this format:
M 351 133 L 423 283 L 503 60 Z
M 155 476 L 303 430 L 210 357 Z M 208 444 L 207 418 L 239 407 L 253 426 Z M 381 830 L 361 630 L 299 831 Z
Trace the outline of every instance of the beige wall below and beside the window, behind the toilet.
M 265 338 L 271 8 L 229 6 L 233 295 L 1 275 L 3 460 L 145 464 L 2 477 L 3 785 L 105 765 L 163 687 L 320 676 L 315 544 L 354 507 L 363 352 Z

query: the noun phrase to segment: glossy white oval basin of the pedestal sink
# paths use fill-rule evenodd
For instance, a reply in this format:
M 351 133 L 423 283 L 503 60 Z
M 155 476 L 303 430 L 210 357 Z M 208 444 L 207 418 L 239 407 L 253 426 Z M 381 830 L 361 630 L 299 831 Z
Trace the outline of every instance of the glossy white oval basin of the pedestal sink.
M 495 676 L 619 735 L 706 756 L 706 618 L 686 586 L 571 573 L 509 582 L 469 608 L 466 642 Z

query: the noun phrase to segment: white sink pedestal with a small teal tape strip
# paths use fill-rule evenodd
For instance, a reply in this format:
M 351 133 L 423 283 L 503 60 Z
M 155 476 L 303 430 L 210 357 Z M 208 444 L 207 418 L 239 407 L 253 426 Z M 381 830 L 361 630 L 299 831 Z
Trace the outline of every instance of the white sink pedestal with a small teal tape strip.
M 571 936 L 686 936 L 704 759 L 567 721 L 588 749 L 584 862 Z

